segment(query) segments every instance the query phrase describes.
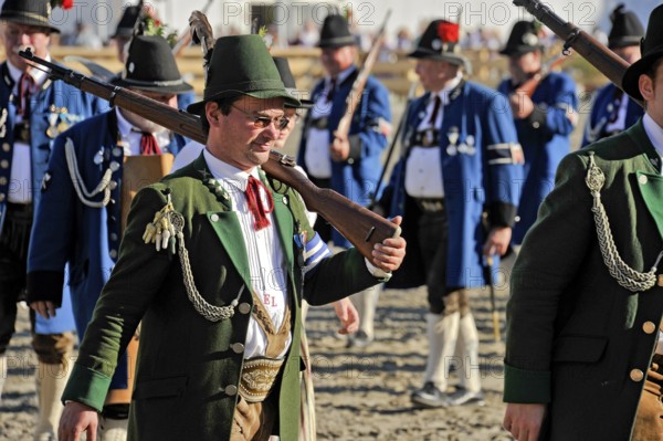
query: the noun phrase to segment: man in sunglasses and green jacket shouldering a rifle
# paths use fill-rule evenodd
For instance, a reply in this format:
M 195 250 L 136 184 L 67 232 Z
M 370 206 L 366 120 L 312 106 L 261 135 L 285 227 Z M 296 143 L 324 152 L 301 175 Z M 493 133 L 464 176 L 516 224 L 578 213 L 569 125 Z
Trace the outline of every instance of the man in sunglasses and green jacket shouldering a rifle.
M 385 240 L 372 262 L 325 252 L 299 196 L 260 168 L 288 102 L 298 104 L 260 36 L 217 40 L 204 99 L 189 106 L 207 148 L 133 202 L 63 395 L 61 441 L 92 439 L 139 323 L 128 440 L 297 439 L 302 298 L 326 304 L 380 283 L 406 244 Z

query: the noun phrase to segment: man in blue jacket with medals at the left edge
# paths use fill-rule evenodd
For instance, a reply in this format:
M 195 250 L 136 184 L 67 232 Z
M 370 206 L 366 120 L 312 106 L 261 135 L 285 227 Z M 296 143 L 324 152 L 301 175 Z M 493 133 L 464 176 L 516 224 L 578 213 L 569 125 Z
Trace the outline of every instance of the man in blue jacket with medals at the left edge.
M 2 3 L 0 32 L 7 61 L 0 64 L 0 393 L 7 378 L 4 354 L 14 333 L 17 302 L 25 290 L 28 244 L 40 183 L 46 170 L 53 138 L 70 125 L 105 107 L 64 83 L 52 82 L 19 56 L 30 48 L 49 59 L 51 34 L 48 1 Z M 62 285 L 60 285 L 62 291 Z M 36 317 L 32 345 L 39 368 L 39 416 L 35 439 L 52 435 L 62 411 L 59 398 L 66 382 L 74 346 L 69 294 L 53 319 Z

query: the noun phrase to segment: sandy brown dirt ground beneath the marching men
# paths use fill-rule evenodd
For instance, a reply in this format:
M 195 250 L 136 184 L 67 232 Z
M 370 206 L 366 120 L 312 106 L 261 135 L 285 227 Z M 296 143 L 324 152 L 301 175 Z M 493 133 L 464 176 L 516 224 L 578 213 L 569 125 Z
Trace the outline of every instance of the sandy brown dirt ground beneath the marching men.
M 504 326 L 507 292 L 497 291 Z M 474 298 L 481 336 L 480 357 L 486 406 L 417 409 L 410 392 L 421 387 L 425 366 L 425 291 L 385 291 L 377 311 L 376 340 L 347 348 L 335 335 L 332 307 L 309 311 L 307 328 L 316 388 L 319 440 L 497 441 L 511 437 L 501 428 L 502 358 L 495 343 L 488 290 Z M 36 359 L 30 346 L 28 313 L 21 312 L 8 353 L 9 376 L 0 405 L 0 440 L 32 441 L 36 413 Z M 504 337 L 504 335 L 502 335 Z M 450 382 L 457 381 L 452 372 Z

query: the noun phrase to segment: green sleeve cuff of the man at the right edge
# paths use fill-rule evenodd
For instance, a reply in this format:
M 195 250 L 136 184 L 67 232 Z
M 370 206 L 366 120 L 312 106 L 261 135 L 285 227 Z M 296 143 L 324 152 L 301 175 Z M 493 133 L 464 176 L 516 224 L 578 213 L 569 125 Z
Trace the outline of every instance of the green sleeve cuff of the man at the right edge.
M 504 364 L 504 402 L 550 402 L 550 371 L 524 370 Z

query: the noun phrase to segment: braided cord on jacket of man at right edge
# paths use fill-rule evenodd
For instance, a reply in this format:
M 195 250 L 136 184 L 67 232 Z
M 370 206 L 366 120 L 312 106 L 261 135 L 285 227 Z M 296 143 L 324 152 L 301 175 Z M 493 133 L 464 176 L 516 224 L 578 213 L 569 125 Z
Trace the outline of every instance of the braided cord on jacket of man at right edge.
M 663 256 L 663 251 L 659 253 L 656 262 L 646 273 L 633 270 L 621 259 L 617 251 L 617 245 L 614 244 L 612 231 L 610 230 L 610 222 L 608 221 L 606 208 L 601 202 L 601 188 L 603 188 L 603 183 L 606 182 L 606 176 L 596 165 L 593 151 L 589 153 L 589 168 L 587 170 L 585 182 L 593 198 L 591 211 L 593 212 L 594 223 L 597 225 L 597 235 L 601 255 L 603 256 L 603 262 L 606 263 L 606 266 L 608 266 L 610 275 L 622 287 L 633 293 L 651 288 L 656 283 L 656 266 Z

